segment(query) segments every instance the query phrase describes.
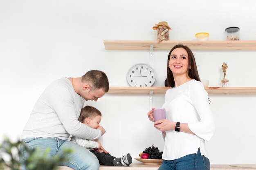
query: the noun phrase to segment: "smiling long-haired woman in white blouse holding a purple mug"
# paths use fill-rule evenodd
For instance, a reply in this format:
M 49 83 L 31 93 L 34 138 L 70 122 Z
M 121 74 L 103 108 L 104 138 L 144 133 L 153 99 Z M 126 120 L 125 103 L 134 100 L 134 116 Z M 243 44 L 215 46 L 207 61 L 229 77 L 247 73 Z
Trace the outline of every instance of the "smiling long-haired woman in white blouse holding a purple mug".
M 158 170 L 209 170 L 205 141 L 215 131 L 208 93 L 200 82 L 195 57 L 183 45 L 171 49 L 167 62 L 167 83 L 162 108 L 166 119 L 155 121 L 165 140 L 163 163 Z M 153 109 L 148 118 L 154 121 Z

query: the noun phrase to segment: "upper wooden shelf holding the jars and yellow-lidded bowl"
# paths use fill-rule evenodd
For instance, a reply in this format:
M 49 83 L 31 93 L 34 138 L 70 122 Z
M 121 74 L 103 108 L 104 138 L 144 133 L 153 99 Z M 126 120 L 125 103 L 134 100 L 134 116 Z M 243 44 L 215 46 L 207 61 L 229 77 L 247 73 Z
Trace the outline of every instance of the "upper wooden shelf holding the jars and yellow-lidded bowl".
M 256 41 L 104 41 L 106 50 L 171 50 L 177 44 L 191 50 L 256 50 Z

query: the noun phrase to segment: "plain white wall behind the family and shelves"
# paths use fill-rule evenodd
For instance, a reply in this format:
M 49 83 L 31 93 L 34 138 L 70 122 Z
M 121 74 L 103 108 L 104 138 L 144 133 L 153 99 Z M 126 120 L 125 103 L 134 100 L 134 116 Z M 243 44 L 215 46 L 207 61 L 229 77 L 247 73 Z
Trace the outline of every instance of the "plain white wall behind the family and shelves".
M 80 77 L 99 69 L 110 86 L 128 86 L 126 73 L 149 63 L 149 51 L 106 51 L 103 40 L 155 40 L 152 27 L 167 21 L 170 40 L 194 40 L 208 32 L 225 40 L 225 29 L 240 28 L 240 40 L 256 40 L 254 0 L 0 0 L 0 140 L 20 138 L 29 114 L 45 87 L 61 77 Z M 256 86 L 256 51 L 193 51 L 201 79 L 221 86 L 221 65 L 229 66 L 229 86 Z M 167 51 L 154 51 L 154 86 L 166 78 Z M 216 133 L 207 148 L 211 163 L 256 163 L 256 95 L 209 95 Z M 160 108 L 164 94 L 154 94 Z M 103 146 L 112 155 L 139 152 L 161 133 L 146 113 L 149 96 L 106 94 L 87 102 L 103 113 Z M 134 160 L 136 162 L 136 160 Z

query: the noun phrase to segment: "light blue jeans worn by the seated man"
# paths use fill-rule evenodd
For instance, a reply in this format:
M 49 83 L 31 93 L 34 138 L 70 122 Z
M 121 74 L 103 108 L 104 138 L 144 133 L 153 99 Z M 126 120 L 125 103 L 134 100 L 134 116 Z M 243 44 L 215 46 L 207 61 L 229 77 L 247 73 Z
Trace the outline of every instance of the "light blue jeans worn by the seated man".
M 64 141 L 58 138 L 30 138 L 22 139 L 22 142 L 29 148 L 40 148 L 40 152 L 43 153 L 46 148 L 50 148 L 49 156 L 61 155 L 63 148 L 71 148 L 72 153 L 67 155 L 67 160 L 61 163 L 59 166 L 68 166 L 74 170 L 99 170 L 99 161 L 97 157 L 88 149 L 79 146 L 71 141 Z M 24 147 L 20 146 L 20 159 L 27 158 L 27 153 Z M 22 167 L 22 170 L 26 170 Z

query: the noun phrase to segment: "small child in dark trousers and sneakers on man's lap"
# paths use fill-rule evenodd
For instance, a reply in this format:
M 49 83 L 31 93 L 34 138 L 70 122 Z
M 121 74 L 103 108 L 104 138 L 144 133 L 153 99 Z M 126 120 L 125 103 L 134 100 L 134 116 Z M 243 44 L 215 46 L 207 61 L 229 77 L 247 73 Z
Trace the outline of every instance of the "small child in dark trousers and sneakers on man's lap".
M 101 112 L 92 106 L 85 106 L 81 110 L 81 114 L 78 119 L 83 124 L 90 126 L 91 128 L 97 129 L 101 121 Z M 132 163 L 132 157 L 130 154 L 126 154 L 121 158 L 116 158 L 111 156 L 106 150 L 101 146 L 101 143 L 97 140 L 87 140 L 80 137 L 71 137 L 71 141 L 80 146 L 88 148 L 99 160 L 101 165 L 108 166 L 129 166 Z M 96 149 L 96 150 L 95 150 Z M 99 152 L 103 150 L 104 152 Z

